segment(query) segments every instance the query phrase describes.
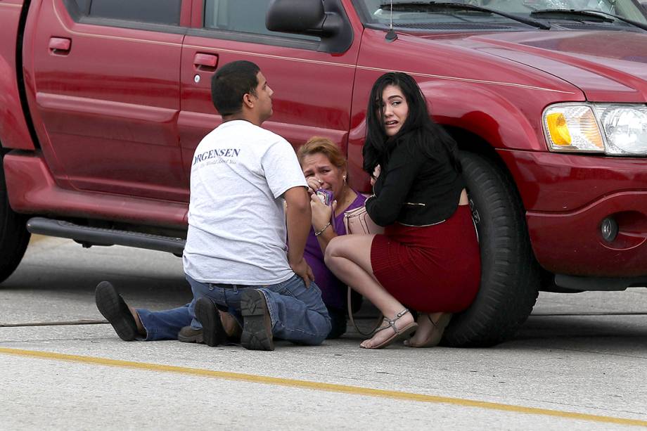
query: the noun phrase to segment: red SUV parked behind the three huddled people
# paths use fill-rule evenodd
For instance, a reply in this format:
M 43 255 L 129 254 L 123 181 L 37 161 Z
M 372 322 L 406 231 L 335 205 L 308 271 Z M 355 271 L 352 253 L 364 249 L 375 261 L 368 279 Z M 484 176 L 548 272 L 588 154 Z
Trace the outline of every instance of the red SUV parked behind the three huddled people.
M 3 0 L 0 39 L 0 281 L 27 220 L 180 255 L 193 150 L 220 120 L 210 78 L 247 59 L 275 91 L 264 126 L 333 139 L 361 191 L 371 84 L 419 82 L 462 150 L 482 252 L 447 344 L 504 340 L 538 290 L 647 282 L 636 0 Z

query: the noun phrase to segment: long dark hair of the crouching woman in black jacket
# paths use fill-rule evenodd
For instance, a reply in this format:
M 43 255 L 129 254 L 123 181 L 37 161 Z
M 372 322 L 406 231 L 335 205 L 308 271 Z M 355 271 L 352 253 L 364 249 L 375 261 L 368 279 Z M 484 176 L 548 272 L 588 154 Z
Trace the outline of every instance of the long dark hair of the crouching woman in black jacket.
M 384 107 L 382 94 L 385 87 L 398 86 L 409 105 L 409 114 L 395 136 L 387 136 L 384 128 Z M 420 87 L 411 76 L 402 72 L 388 72 L 378 78 L 371 89 L 369 108 L 366 112 L 366 141 L 362 153 L 364 170 L 373 174 L 373 169 L 380 164 L 399 141 L 411 141 L 411 150 L 420 148 L 423 154 L 434 157 L 440 148 L 449 155 L 456 172 L 461 172 L 459 150 L 454 139 L 429 116 L 427 103 Z

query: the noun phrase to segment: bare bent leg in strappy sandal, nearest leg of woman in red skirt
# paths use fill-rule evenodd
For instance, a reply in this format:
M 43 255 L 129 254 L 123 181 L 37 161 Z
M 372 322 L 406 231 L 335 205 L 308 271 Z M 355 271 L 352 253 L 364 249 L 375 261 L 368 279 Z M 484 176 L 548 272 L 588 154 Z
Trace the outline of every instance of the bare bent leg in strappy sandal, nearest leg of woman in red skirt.
M 333 238 L 326 247 L 326 266 L 341 281 L 364 295 L 373 303 L 387 319 L 393 319 L 404 309 L 373 276 L 371 266 L 371 244 L 374 235 L 345 235 Z M 407 313 L 396 323 L 397 328 L 404 328 L 414 321 Z M 364 347 L 373 347 L 393 335 L 390 329 L 380 330 L 370 340 L 362 343 Z

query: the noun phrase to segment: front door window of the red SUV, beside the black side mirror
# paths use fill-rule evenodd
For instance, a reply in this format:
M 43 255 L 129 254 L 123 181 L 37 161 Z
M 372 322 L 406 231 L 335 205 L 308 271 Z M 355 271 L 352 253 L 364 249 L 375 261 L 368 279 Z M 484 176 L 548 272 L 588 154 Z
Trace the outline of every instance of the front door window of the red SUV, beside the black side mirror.
M 252 34 L 319 41 L 303 34 L 271 32 L 265 27 L 265 13 L 270 0 L 206 0 L 204 27 Z

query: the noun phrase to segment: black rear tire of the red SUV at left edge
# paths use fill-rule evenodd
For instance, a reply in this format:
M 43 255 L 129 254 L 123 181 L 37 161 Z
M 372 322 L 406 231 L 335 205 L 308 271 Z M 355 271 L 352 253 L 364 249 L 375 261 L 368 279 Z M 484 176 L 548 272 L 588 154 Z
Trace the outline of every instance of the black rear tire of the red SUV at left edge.
M 13 212 L 9 206 L 0 158 L 0 283 L 13 274 L 25 255 L 30 241 L 26 223 L 27 219 Z

